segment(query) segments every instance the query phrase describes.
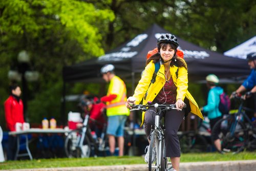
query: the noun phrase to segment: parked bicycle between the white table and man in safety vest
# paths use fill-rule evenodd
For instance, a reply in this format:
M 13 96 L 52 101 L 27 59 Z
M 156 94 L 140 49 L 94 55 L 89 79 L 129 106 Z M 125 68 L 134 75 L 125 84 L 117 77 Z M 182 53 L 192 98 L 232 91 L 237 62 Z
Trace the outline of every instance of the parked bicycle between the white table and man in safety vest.
M 80 104 L 80 103 L 79 103 Z M 89 103 L 80 105 L 82 109 L 86 109 Z M 92 135 L 90 122 L 101 125 L 100 136 Z M 99 155 L 100 152 L 103 156 L 106 156 L 106 122 L 99 122 L 90 117 L 89 110 L 85 111 L 85 116 L 82 125 L 67 135 L 65 139 L 65 152 L 70 158 L 72 157 L 90 157 L 92 151 L 95 155 Z

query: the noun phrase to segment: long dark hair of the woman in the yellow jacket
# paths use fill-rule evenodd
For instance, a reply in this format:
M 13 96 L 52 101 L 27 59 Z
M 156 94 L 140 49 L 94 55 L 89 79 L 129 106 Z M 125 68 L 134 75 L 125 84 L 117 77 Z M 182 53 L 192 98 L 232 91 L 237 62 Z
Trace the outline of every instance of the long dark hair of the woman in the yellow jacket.
M 152 55 L 151 57 L 149 57 L 147 60 L 146 60 L 146 65 L 148 65 L 148 63 L 150 63 L 151 60 L 153 60 L 154 63 L 158 62 L 160 59 L 161 59 L 161 55 L 160 55 L 160 49 L 162 47 L 167 47 L 167 45 L 170 45 L 170 47 L 172 47 L 174 50 L 175 50 L 175 53 L 174 53 L 174 57 L 173 59 L 170 61 L 170 66 L 173 67 L 174 65 L 176 67 L 184 67 L 185 69 L 187 69 L 187 65 L 186 65 L 186 62 L 185 60 L 183 60 L 182 58 L 178 57 L 176 55 L 176 52 L 177 52 L 177 46 L 173 43 L 169 43 L 169 42 L 162 42 L 159 47 L 158 47 L 158 53 Z M 176 58 L 176 61 L 174 60 Z

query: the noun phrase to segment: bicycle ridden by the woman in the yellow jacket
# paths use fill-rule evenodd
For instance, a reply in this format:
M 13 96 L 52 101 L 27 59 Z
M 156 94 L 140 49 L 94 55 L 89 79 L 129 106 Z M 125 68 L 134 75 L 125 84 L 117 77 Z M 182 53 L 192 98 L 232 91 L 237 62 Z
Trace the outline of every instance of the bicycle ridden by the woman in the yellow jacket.
M 185 105 L 186 106 L 186 105 Z M 185 108 L 185 106 L 183 108 Z M 156 170 L 156 171 L 164 171 L 167 169 L 172 168 L 172 163 L 168 162 L 168 159 L 166 157 L 166 148 L 165 148 L 165 138 L 164 138 L 164 126 L 160 124 L 160 114 L 161 112 L 177 109 L 175 104 L 138 104 L 133 105 L 130 111 L 152 111 L 150 107 L 154 107 L 155 110 L 153 112 L 156 112 L 155 116 L 155 124 L 152 125 L 151 130 L 151 141 L 150 146 L 148 148 L 149 150 L 149 159 L 148 159 L 148 170 Z M 153 148 L 155 148 L 156 151 L 156 159 L 152 162 L 153 157 Z

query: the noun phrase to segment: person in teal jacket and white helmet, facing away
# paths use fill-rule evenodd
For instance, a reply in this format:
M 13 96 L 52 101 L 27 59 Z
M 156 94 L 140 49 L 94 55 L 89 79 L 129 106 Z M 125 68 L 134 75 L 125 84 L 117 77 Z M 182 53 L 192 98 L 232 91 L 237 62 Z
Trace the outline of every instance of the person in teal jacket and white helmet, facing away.
M 220 95 L 223 93 L 223 89 L 218 86 L 219 78 L 214 74 L 209 74 L 206 77 L 206 85 L 209 89 L 207 105 L 203 106 L 200 110 L 202 113 L 206 114 L 210 120 L 210 129 L 214 127 L 215 123 L 222 119 L 222 114 L 219 110 Z M 214 144 L 221 152 L 221 141 L 218 134 L 212 133 L 211 136 L 214 139 Z

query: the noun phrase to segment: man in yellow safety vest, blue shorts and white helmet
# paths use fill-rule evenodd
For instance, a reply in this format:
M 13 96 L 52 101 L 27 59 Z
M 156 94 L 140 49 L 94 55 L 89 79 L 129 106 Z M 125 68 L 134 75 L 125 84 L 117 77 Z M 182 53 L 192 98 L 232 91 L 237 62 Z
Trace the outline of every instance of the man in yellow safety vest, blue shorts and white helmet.
M 123 130 L 130 111 L 125 106 L 127 100 L 125 84 L 123 80 L 115 75 L 114 69 L 115 67 L 109 64 L 103 66 L 100 70 L 102 78 L 106 82 L 110 82 L 108 93 L 100 100 L 106 102 L 106 116 L 108 116 L 106 134 L 109 138 L 110 153 L 111 155 L 115 153 L 115 137 L 117 137 L 119 156 L 123 156 Z

